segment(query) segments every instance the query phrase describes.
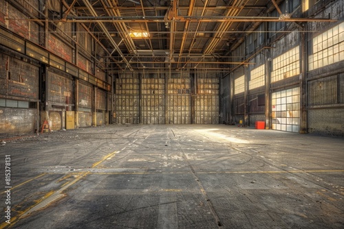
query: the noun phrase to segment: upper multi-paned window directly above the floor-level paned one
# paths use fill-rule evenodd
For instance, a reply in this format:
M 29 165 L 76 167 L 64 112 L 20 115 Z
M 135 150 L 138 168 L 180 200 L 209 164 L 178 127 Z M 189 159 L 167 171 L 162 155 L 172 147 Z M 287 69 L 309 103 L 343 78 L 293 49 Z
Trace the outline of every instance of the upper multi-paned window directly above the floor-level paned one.
M 300 47 L 294 47 L 272 60 L 271 82 L 300 74 Z

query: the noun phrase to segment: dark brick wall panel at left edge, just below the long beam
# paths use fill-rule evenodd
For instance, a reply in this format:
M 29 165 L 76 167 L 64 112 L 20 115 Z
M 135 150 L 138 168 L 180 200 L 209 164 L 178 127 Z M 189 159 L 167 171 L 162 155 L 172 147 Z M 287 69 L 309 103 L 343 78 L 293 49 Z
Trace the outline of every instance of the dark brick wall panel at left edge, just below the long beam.
M 39 67 L 0 53 L 0 95 L 39 99 Z

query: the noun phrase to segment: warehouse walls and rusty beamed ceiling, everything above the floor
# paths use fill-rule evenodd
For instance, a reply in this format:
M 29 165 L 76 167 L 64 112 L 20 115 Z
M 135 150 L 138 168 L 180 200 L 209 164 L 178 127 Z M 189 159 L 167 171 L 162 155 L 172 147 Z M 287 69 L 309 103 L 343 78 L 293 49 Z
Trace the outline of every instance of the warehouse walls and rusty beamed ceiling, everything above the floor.
M 264 121 L 343 136 L 342 1 L 23 0 L 0 16 L 1 134 Z

